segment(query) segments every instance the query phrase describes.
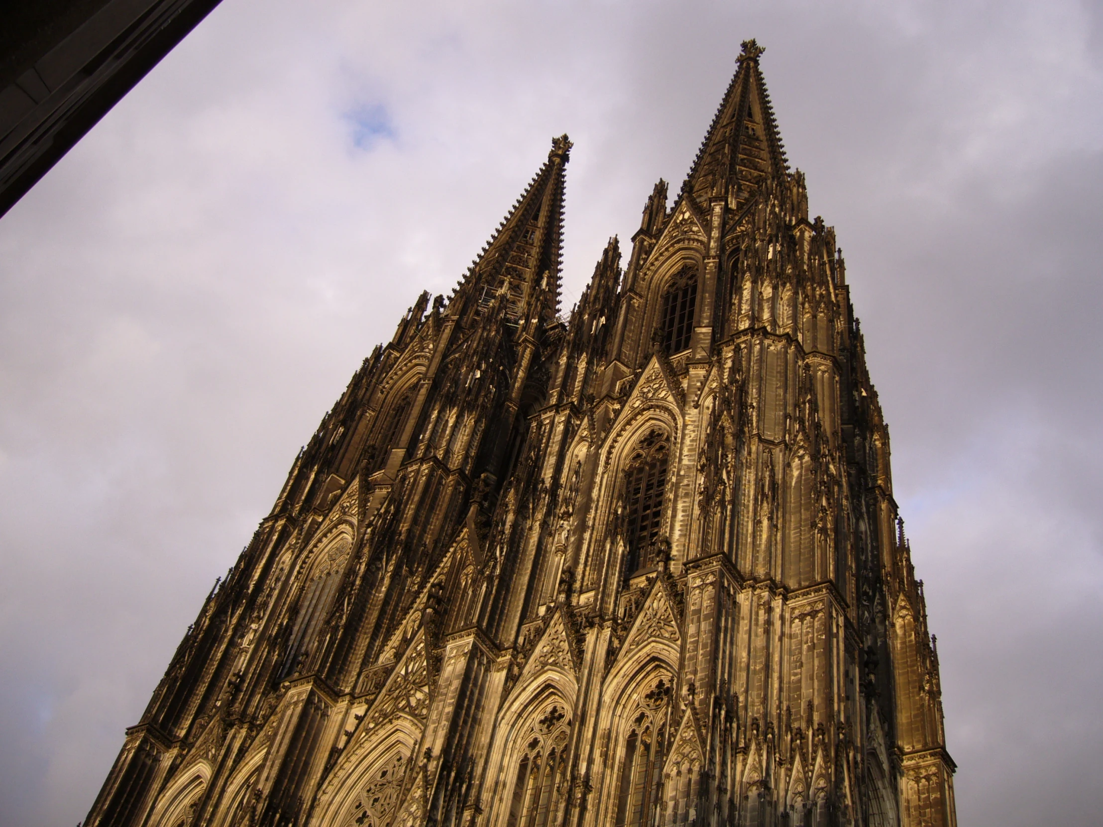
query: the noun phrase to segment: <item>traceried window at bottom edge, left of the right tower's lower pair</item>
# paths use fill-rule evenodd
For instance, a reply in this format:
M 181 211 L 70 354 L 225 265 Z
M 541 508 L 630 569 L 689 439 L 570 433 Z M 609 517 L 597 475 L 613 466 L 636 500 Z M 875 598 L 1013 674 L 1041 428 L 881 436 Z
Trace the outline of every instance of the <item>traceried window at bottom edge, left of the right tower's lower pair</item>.
M 549 827 L 563 804 L 567 774 L 570 720 L 559 704 L 547 707 L 534 721 L 513 777 L 506 827 Z

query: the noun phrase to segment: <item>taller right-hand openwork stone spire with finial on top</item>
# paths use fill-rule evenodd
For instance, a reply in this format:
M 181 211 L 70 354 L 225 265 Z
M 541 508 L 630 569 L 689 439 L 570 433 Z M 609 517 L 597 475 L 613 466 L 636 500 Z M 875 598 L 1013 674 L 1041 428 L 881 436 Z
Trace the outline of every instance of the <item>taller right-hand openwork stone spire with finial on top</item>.
M 732 208 L 741 208 L 765 179 L 789 169 L 759 68 L 764 51 L 743 41 L 736 74 L 682 185 L 682 193 L 702 205 L 726 196 Z

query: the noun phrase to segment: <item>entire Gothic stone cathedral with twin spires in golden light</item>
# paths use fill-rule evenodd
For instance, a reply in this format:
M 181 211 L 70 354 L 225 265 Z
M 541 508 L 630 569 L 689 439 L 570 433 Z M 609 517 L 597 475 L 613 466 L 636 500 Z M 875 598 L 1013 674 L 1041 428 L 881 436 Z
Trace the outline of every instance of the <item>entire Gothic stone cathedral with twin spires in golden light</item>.
M 761 51 L 567 319 L 553 141 L 300 452 L 88 827 L 955 825 L 888 430 Z

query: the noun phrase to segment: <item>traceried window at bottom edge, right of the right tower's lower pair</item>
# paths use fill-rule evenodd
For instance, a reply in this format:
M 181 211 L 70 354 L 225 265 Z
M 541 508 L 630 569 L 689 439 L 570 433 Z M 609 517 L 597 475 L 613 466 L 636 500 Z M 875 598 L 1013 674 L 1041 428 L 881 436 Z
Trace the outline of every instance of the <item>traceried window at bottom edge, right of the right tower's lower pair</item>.
M 666 754 L 666 700 L 670 684 L 660 678 L 640 700 L 629 728 L 617 790 L 615 827 L 653 823 Z

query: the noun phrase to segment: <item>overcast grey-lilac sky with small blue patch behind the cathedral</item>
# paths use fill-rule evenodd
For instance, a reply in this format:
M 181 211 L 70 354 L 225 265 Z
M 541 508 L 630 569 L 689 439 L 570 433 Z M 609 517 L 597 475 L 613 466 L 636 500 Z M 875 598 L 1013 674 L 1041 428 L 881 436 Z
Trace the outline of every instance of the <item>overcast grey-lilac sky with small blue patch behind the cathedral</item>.
M 959 816 L 1099 824 L 1103 10 L 224 0 L 0 219 L 0 827 L 84 817 L 299 447 L 546 158 L 565 305 L 735 71 L 838 232 Z

